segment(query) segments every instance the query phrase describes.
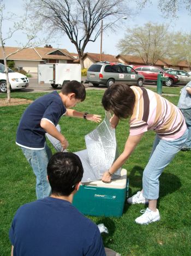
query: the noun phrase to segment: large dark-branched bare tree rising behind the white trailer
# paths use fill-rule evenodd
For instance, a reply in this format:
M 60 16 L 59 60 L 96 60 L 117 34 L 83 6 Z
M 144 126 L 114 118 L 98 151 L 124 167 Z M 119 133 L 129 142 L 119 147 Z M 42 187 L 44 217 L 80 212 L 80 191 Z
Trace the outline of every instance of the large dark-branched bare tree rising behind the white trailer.
M 34 0 L 31 6 L 33 18 L 41 20 L 47 30 L 65 34 L 76 47 L 82 68 L 83 53 L 88 42 L 95 42 L 103 30 L 114 28 L 122 15 L 129 13 L 125 0 Z

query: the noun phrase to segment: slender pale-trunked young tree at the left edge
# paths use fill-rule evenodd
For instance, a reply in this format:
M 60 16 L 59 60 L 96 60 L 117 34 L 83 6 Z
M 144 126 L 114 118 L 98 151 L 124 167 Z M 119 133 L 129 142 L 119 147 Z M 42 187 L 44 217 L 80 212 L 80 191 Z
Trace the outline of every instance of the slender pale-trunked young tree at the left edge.
M 0 1 L 0 43 L 3 50 L 3 60 L 5 66 L 5 75 L 7 80 L 7 99 L 8 103 L 10 103 L 10 82 L 9 82 L 9 73 L 8 73 L 8 65 L 7 59 L 9 56 L 20 52 L 22 49 L 26 49 L 32 46 L 40 45 L 43 42 L 47 41 L 47 38 L 39 39 L 38 32 L 40 31 L 40 24 L 37 21 L 28 24 L 28 9 L 23 9 L 22 16 L 17 16 L 14 13 L 7 13 L 7 16 L 4 15 L 5 13 L 5 4 L 3 0 Z M 12 22 L 11 26 L 9 27 L 9 31 L 4 36 L 3 35 L 3 26 L 4 22 Z M 25 44 L 16 42 L 17 44 L 22 45 L 20 48 L 15 50 L 13 53 L 6 54 L 5 52 L 5 42 L 10 39 L 16 32 L 22 31 L 25 34 L 26 41 Z M 49 36 L 48 36 L 49 37 Z

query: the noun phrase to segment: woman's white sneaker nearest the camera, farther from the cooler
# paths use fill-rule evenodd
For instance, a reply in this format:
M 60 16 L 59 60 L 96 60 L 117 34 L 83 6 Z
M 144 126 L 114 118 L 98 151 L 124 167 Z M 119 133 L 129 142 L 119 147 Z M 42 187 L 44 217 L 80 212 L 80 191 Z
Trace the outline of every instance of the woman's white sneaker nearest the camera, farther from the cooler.
M 153 212 L 149 208 L 146 208 L 146 210 L 141 210 L 141 213 L 143 214 L 135 219 L 135 222 L 138 224 L 144 225 L 160 220 L 160 214 L 158 209 L 157 212 Z

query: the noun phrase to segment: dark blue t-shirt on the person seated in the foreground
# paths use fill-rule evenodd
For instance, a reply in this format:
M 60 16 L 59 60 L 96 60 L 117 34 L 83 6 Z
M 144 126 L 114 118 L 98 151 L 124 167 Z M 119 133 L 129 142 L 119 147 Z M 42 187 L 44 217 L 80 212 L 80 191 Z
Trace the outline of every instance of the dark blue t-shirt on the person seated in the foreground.
M 105 256 L 98 226 L 70 202 L 52 197 L 21 206 L 9 238 L 14 256 Z

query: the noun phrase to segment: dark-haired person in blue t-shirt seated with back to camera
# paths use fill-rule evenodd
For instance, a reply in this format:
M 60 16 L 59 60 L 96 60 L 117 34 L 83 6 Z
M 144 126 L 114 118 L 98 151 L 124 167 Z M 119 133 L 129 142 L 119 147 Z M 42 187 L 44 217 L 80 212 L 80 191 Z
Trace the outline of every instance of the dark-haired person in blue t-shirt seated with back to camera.
M 47 164 L 52 194 L 21 206 L 9 230 L 11 255 L 105 256 L 98 226 L 71 204 L 83 175 L 80 158 L 57 152 Z

